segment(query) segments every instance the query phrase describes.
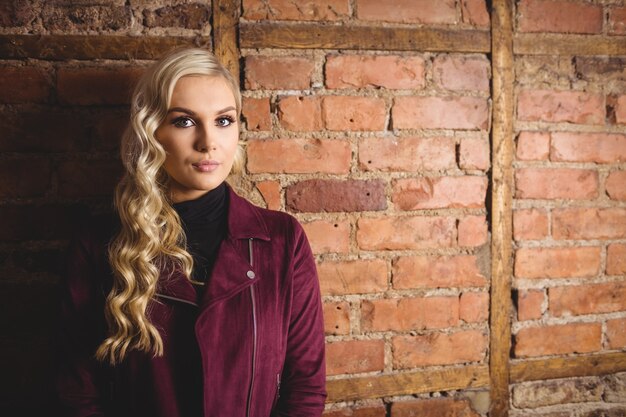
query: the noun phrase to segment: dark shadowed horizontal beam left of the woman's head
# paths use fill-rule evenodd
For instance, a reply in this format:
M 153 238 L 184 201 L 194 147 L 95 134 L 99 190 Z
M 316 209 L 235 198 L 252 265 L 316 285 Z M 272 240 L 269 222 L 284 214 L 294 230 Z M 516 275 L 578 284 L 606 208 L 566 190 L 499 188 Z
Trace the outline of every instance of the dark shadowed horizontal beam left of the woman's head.
M 156 59 L 184 45 L 199 44 L 182 36 L 0 35 L 0 59 Z

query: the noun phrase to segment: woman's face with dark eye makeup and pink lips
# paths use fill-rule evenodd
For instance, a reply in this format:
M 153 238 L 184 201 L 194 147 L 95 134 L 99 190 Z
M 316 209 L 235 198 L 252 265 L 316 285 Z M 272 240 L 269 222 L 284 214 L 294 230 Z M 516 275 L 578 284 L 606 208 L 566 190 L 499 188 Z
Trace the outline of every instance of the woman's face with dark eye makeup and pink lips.
M 164 169 L 173 202 L 216 188 L 230 173 L 239 139 L 235 96 L 227 82 L 205 75 L 179 79 L 155 136 L 167 153 Z

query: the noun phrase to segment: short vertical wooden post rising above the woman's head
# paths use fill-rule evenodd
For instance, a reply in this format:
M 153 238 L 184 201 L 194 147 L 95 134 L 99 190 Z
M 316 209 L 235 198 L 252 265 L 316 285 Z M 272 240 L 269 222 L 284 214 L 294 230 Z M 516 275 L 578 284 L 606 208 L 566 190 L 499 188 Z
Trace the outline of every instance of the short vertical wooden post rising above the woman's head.
M 239 14 L 241 0 L 213 0 L 213 53 L 239 80 Z

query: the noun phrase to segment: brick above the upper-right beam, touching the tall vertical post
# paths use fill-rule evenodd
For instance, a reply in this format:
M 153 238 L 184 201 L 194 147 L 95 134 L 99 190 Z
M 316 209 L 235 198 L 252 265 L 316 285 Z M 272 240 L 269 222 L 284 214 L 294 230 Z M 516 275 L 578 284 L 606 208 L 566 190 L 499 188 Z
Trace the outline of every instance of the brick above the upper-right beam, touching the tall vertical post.
M 523 0 L 518 6 L 520 32 L 601 33 L 602 6 L 560 0 Z

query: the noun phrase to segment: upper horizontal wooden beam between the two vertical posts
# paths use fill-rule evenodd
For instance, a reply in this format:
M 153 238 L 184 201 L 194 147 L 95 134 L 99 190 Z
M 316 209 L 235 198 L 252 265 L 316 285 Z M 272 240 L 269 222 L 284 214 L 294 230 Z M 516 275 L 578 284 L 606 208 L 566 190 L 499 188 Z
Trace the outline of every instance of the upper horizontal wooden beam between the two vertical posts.
M 489 32 L 430 28 L 242 23 L 242 48 L 490 51 Z

